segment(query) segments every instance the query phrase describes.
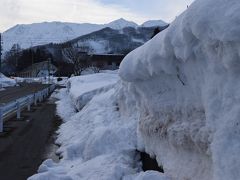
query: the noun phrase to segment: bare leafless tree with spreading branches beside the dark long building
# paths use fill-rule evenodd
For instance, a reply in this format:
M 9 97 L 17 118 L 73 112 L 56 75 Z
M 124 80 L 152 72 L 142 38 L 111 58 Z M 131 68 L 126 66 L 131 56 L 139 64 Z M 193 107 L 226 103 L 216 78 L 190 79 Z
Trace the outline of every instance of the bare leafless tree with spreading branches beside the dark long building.
M 89 66 L 89 59 L 86 53 L 80 52 L 77 47 L 71 45 L 68 48 L 63 49 L 63 56 L 73 64 L 74 75 L 79 76 Z

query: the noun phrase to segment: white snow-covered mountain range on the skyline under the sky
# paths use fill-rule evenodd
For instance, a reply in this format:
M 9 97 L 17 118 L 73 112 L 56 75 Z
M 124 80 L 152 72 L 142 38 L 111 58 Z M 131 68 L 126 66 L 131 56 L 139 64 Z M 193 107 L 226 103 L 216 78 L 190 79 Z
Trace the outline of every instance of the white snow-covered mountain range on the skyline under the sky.
M 108 24 L 43 22 L 16 25 L 2 34 L 3 51 L 10 50 L 14 44 L 26 49 L 48 43 L 62 43 L 105 27 L 120 30 L 125 27 L 137 28 L 138 24 L 121 18 Z

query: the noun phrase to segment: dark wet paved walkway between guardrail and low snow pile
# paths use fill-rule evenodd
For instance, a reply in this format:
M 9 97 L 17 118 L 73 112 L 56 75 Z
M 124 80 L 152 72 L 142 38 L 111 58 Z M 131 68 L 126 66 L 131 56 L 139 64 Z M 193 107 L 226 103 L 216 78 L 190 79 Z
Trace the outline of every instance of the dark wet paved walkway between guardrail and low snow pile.
M 26 180 L 45 159 L 52 135 L 58 128 L 56 105 L 48 100 L 23 112 L 23 119 L 10 119 L 0 133 L 0 179 Z

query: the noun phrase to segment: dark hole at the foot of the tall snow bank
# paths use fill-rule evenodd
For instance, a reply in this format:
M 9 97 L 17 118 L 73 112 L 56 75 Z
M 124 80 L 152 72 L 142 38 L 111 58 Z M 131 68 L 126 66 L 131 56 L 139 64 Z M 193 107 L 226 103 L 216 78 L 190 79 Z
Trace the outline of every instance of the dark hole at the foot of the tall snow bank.
M 158 166 L 156 159 L 151 158 L 150 155 L 145 152 L 139 152 L 139 153 L 141 157 L 143 171 L 153 170 L 153 171 L 164 173 L 163 167 Z

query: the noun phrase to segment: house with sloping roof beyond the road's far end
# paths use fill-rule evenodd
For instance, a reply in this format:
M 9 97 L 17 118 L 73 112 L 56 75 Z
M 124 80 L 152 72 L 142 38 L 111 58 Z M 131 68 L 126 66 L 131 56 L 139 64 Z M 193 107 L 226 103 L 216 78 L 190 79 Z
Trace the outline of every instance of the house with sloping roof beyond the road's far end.
M 53 75 L 57 71 L 57 67 L 49 61 L 35 63 L 21 72 L 17 73 L 18 77 L 46 77 Z

